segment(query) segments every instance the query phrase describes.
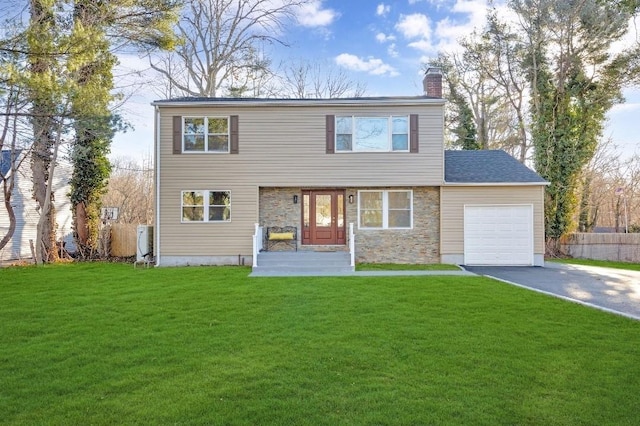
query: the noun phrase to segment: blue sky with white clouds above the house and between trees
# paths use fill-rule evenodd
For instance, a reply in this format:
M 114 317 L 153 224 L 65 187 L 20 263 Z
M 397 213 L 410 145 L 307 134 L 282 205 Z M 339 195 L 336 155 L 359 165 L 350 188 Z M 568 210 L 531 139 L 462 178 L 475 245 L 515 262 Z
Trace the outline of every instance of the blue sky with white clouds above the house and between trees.
M 501 8 L 504 1 L 495 3 Z M 265 49 L 274 62 L 309 59 L 340 67 L 366 83 L 367 96 L 420 95 L 422 65 L 439 50 L 457 49 L 459 37 L 482 26 L 486 7 L 486 0 L 312 0 L 280 35 L 289 47 Z M 146 68 L 134 56 L 121 63 L 123 70 Z M 626 155 L 640 147 L 640 89 L 625 96 L 610 113 L 605 136 Z M 122 112 L 135 130 L 116 136 L 111 157 L 152 155 L 154 97 L 142 85 L 126 102 Z

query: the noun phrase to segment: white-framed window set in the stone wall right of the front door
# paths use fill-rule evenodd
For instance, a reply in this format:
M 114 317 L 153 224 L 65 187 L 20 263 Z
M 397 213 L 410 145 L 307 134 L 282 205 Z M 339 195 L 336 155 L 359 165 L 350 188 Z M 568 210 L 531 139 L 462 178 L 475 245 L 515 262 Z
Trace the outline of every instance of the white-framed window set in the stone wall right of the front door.
M 359 191 L 358 227 L 411 229 L 413 227 L 413 191 Z

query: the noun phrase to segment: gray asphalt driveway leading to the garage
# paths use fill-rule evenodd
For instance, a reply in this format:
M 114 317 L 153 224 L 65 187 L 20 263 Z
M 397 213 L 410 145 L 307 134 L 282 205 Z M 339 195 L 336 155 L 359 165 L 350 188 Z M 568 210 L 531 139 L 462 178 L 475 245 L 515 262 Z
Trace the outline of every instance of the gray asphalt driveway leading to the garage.
M 640 272 L 547 262 L 544 267 L 467 266 L 533 290 L 640 320 Z

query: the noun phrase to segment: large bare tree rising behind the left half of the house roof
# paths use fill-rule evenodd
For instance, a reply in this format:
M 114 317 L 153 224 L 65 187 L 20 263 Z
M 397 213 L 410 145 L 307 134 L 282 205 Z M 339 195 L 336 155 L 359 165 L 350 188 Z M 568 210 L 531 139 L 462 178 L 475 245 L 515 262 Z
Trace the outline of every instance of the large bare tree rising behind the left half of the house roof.
M 279 37 L 307 0 L 194 0 L 177 25 L 174 52 L 150 56 L 151 67 L 174 96 L 255 94 L 256 73 L 268 73 L 262 44 L 286 45 Z M 261 81 L 261 79 L 257 79 Z

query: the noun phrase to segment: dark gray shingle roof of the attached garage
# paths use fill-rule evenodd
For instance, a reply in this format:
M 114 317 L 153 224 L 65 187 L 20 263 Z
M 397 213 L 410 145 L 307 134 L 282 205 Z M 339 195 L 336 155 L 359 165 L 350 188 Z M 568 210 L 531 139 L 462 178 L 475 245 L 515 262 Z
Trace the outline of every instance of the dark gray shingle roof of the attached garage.
M 445 151 L 444 180 L 447 183 L 547 183 L 502 150 Z

